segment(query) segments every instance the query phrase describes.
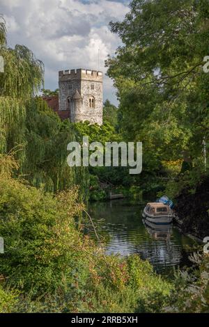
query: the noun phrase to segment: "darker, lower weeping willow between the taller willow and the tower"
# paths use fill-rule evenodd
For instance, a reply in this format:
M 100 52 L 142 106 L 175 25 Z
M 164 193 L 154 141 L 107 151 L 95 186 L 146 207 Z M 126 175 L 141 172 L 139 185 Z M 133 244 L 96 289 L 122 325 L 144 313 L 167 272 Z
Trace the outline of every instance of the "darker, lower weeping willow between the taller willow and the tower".
M 26 160 L 22 173 L 28 174 L 31 184 L 44 183 L 48 191 L 66 189 L 79 184 L 80 194 L 86 198 L 88 170 L 70 168 L 67 164 L 67 145 L 75 141 L 68 120 L 59 116 L 40 97 L 26 104 Z

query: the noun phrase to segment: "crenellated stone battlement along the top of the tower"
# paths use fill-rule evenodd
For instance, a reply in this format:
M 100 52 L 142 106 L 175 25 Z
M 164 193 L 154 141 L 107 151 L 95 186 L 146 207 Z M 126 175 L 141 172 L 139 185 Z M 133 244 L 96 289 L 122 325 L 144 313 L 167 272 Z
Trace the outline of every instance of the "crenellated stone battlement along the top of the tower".
M 60 70 L 59 79 L 86 79 L 86 78 L 102 77 L 102 72 L 98 70 L 84 70 L 79 68 L 77 70 Z

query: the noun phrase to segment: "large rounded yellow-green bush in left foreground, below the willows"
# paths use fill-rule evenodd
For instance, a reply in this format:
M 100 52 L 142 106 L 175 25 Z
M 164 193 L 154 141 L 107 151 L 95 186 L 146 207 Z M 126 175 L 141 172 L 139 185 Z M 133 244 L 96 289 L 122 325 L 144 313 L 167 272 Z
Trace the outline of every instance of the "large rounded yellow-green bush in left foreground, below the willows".
M 1 275 L 33 295 L 55 292 L 65 284 L 69 267 L 75 266 L 73 248 L 75 241 L 79 246 L 79 234 L 73 218 L 82 209 L 77 190 L 54 198 L 5 175 L 0 184 L 0 234 L 6 247 Z

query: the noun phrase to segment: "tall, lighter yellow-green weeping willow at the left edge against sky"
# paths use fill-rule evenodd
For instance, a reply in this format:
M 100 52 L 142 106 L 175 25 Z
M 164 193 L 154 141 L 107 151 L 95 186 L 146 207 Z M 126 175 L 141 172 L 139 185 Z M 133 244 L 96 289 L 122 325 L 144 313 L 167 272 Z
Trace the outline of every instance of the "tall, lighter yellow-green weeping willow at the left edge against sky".
M 0 72 L 0 151 L 9 152 L 26 145 L 26 102 L 43 83 L 44 68 L 24 46 L 7 47 L 5 21 L 0 15 L 0 56 L 4 72 Z M 24 158 L 22 151 L 21 157 Z

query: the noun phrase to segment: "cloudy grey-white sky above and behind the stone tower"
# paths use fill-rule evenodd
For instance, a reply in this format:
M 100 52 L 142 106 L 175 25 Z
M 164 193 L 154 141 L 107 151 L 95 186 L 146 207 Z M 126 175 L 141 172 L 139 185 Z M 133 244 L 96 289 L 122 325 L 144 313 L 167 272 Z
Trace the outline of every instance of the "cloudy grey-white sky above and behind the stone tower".
M 8 45 L 26 45 L 45 64 L 45 88 L 58 88 L 58 71 L 98 69 L 113 55 L 120 40 L 109 22 L 123 20 L 129 1 L 121 0 L 0 0 Z M 104 100 L 117 104 L 112 81 L 104 76 Z

